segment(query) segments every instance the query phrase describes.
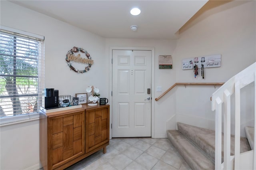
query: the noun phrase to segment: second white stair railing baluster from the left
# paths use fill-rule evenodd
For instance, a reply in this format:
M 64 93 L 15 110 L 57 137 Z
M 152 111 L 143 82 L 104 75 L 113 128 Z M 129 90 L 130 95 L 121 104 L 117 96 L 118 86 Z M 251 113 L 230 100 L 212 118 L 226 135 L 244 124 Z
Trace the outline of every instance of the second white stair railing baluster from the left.
M 230 170 L 230 92 L 224 91 L 224 170 Z

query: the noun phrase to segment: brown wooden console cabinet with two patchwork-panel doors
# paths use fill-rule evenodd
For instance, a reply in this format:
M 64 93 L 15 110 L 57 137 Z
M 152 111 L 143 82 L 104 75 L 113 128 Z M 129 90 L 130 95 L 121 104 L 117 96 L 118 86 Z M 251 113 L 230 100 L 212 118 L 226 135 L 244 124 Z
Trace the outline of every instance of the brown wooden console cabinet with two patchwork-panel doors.
M 109 144 L 109 105 L 40 112 L 40 161 L 44 170 L 64 169 Z

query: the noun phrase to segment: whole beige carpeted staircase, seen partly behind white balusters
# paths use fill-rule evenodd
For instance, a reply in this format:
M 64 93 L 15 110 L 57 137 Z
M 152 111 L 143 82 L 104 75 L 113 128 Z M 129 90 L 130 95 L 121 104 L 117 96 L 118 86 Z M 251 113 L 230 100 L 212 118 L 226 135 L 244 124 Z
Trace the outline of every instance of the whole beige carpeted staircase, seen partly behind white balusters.
M 178 130 L 167 130 L 170 142 L 194 170 L 214 169 L 215 131 L 177 123 Z M 248 134 L 247 134 L 248 136 Z M 230 138 L 231 155 L 234 155 L 234 136 Z M 240 138 L 240 153 L 251 150 L 247 138 Z M 222 134 L 223 162 L 223 134 Z

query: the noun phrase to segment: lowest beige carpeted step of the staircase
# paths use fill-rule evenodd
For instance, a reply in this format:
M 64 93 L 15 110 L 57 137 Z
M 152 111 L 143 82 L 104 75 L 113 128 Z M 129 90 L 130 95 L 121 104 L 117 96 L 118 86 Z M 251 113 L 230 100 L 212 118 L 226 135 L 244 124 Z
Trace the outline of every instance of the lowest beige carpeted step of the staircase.
M 175 146 L 180 155 L 194 170 L 213 170 L 214 162 L 208 158 L 199 148 L 194 146 L 178 130 L 167 130 L 170 142 Z

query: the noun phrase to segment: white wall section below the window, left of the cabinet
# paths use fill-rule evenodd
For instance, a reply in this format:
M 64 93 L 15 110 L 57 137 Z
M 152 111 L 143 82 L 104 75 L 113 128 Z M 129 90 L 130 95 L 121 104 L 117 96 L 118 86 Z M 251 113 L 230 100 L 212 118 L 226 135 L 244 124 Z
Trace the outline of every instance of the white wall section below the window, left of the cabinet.
M 1 127 L 0 169 L 39 168 L 39 120 Z

